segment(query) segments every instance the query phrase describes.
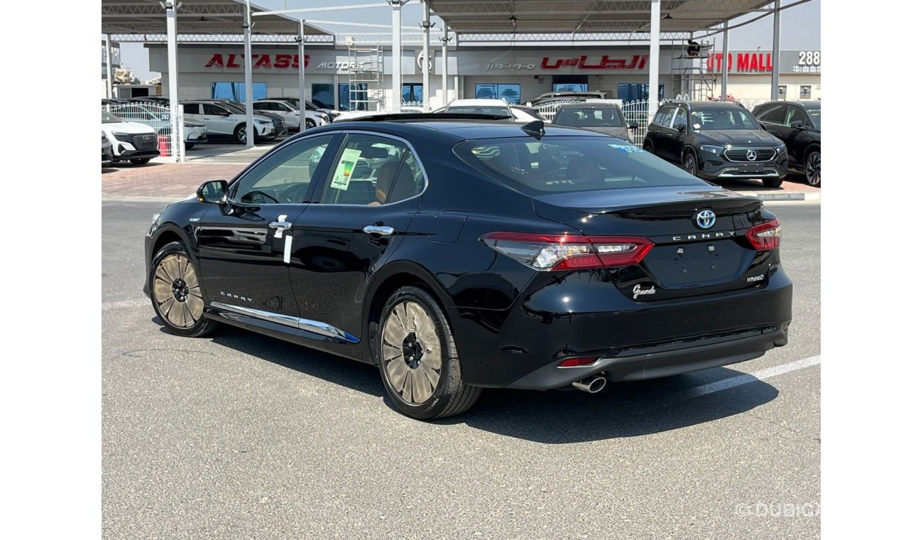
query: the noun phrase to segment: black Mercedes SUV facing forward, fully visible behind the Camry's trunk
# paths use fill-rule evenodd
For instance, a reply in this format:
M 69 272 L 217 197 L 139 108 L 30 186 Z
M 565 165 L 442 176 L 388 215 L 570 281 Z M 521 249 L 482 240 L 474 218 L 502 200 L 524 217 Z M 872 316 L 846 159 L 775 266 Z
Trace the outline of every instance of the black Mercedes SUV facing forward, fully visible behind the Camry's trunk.
M 653 117 L 643 149 L 707 180 L 760 178 L 782 186 L 785 143 L 735 102 L 667 102 Z

